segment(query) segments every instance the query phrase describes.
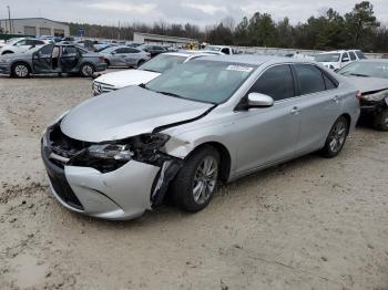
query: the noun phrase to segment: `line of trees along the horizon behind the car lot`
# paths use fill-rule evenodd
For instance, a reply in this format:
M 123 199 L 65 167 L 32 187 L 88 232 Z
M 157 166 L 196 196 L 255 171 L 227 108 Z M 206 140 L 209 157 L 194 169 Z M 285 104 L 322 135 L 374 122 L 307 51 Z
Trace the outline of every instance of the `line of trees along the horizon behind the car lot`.
M 201 42 L 239 46 L 268 46 L 287 49 L 361 49 L 366 52 L 388 52 L 388 29 L 377 20 L 369 1 L 356 3 L 351 11 L 340 14 L 328 9 L 319 17 L 292 24 L 288 18 L 275 21 L 270 14 L 256 12 L 235 24 L 228 17 L 219 23 L 200 29 L 186 23 L 153 25 L 121 23 L 120 27 L 70 23 L 72 34 L 82 27 L 86 37 L 131 40 L 133 32 L 192 38 Z

